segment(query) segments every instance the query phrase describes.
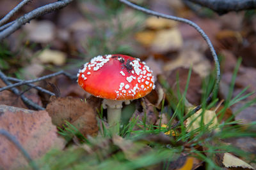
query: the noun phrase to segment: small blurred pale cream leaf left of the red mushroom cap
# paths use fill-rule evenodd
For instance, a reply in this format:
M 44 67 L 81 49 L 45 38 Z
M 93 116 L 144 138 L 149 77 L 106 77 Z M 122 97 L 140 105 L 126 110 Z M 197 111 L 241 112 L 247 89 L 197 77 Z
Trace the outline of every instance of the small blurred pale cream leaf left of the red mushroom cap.
M 38 55 L 38 59 L 42 63 L 52 63 L 56 66 L 62 66 L 65 64 L 67 58 L 67 54 L 64 52 L 60 52 L 58 50 L 49 50 L 45 49 Z

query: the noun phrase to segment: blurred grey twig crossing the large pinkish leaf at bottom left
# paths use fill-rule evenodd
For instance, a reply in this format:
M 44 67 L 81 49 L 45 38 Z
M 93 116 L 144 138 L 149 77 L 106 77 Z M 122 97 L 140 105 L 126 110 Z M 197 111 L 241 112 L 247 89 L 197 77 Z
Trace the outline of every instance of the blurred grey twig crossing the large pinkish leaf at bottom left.
M 26 158 L 26 160 L 28 161 L 29 165 L 34 169 L 39 169 L 35 162 L 33 162 L 33 160 L 31 159 L 31 157 L 29 156 L 28 152 L 26 152 L 26 150 L 22 147 L 22 145 L 19 143 L 19 141 L 15 138 L 15 136 L 13 136 L 12 134 L 10 134 L 8 131 L 5 131 L 4 129 L 0 129 L 0 134 L 5 136 L 9 141 L 12 141 L 12 143 L 20 150 L 20 152 L 22 153 L 22 155 L 24 155 L 24 157 Z

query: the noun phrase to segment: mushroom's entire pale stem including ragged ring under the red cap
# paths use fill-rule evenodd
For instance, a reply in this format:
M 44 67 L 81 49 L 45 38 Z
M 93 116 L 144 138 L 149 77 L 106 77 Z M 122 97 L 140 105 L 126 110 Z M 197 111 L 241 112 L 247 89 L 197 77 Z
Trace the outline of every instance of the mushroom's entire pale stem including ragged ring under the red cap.
M 103 108 L 108 108 L 108 124 L 109 129 L 112 134 L 118 132 L 118 124 L 120 125 L 121 112 L 122 112 L 122 103 L 129 104 L 129 101 L 114 101 L 114 100 L 103 100 Z

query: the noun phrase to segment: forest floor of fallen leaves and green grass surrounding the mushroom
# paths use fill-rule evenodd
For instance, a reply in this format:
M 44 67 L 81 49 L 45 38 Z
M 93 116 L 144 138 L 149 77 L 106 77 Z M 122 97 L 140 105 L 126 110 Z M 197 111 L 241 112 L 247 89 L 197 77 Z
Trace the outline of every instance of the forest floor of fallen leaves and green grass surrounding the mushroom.
M 0 17 L 16 3 L 2 0 Z M 13 18 L 45 3 L 32 1 Z M 118 1 L 74 1 L 0 43 L 0 70 L 7 79 L 33 80 L 61 70 L 76 76 L 92 57 L 122 53 L 147 63 L 156 89 L 123 106 L 118 134 L 109 131 L 102 99 L 81 89 L 76 78 L 61 74 L 33 83 L 52 96 L 28 83 L 17 87 L 19 96 L 1 91 L 0 129 L 15 136 L 33 162 L 1 135 L 0 169 L 256 168 L 255 11 L 220 16 L 198 6 L 192 11 L 182 1 L 140 5 L 187 18 L 209 36 L 221 67 L 211 103 L 205 101 L 214 86 L 214 60 L 193 27 Z M 21 96 L 45 110 L 33 110 Z M 202 110 L 184 120 L 199 104 Z

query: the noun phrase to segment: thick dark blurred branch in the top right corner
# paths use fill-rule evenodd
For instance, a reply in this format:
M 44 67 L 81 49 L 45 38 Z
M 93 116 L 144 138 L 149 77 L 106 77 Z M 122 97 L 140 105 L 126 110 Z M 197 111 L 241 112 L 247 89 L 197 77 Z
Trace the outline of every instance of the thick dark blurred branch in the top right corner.
M 200 4 L 215 11 L 219 15 L 229 11 L 253 10 L 256 8 L 256 0 L 186 0 Z

